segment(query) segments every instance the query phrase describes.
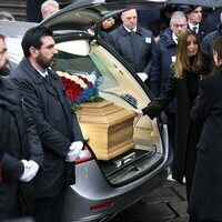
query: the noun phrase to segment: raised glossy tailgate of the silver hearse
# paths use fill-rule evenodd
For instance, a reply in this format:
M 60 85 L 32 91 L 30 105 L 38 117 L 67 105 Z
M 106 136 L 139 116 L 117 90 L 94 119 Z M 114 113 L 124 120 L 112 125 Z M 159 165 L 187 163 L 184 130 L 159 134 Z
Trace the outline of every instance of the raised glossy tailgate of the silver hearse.
M 128 9 L 150 9 L 164 6 L 165 0 L 78 0 L 43 20 L 40 26 L 59 30 L 87 31 L 105 18 Z

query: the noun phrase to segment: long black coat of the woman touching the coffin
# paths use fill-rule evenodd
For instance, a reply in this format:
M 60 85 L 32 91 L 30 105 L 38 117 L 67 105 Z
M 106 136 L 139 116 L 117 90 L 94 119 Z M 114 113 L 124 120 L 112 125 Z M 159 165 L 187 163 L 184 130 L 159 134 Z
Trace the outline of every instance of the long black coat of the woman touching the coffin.
M 174 145 L 174 158 L 172 165 L 173 179 L 181 182 L 183 181 L 183 175 L 194 171 L 195 163 L 195 144 L 199 140 L 199 131 L 196 131 L 191 120 L 191 92 L 188 84 L 188 75 L 198 74 L 188 73 L 185 78 L 178 79 L 172 74 L 169 78 L 165 90 L 161 95 L 154 99 L 148 104 L 142 111 L 148 114 L 151 119 L 158 117 L 161 111 L 175 98 L 176 100 L 176 111 L 175 111 L 175 145 Z M 199 80 L 198 80 L 199 82 Z M 198 87 L 196 87 L 198 93 Z M 191 164 L 190 164 L 191 163 Z

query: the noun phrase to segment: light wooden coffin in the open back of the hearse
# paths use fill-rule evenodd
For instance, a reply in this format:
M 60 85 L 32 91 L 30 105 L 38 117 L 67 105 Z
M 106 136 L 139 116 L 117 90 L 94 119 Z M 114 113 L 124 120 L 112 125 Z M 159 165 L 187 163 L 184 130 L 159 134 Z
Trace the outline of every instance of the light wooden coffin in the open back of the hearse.
M 77 117 L 83 135 L 99 160 L 110 160 L 132 149 L 134 112 L 113 102 L 82 103 Z

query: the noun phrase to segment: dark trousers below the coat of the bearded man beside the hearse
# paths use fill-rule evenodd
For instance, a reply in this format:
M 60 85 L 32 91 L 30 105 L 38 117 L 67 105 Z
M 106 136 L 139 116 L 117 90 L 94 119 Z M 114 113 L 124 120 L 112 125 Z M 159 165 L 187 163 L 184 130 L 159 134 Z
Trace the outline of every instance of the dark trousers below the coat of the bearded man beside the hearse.
M 57 196 L 38 198 L 36 222 L 61 222 L 65 192 L 62 190 Z

